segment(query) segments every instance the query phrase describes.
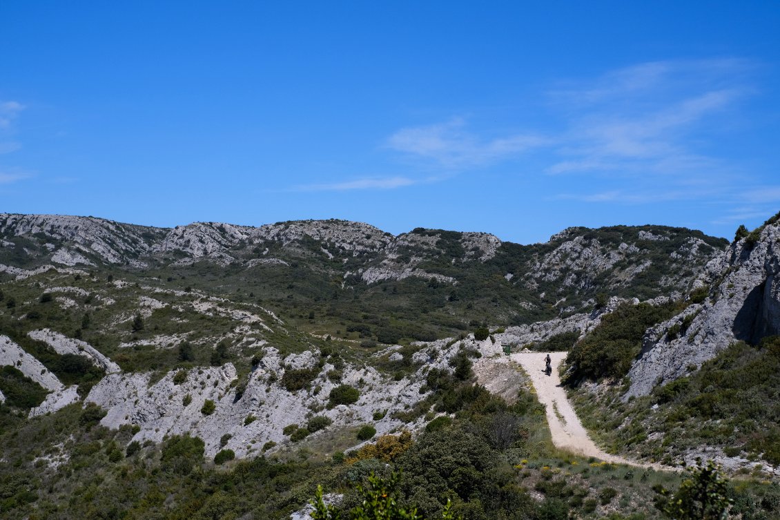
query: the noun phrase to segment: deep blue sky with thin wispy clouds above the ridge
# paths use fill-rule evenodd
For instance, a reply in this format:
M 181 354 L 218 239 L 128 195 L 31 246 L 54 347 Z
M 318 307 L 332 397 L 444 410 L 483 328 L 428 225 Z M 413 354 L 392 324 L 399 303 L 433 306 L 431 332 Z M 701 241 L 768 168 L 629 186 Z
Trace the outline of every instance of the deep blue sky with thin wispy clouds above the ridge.
M 0 2 L 0 211 L 391 233 L 780 210 L 777 2 Z

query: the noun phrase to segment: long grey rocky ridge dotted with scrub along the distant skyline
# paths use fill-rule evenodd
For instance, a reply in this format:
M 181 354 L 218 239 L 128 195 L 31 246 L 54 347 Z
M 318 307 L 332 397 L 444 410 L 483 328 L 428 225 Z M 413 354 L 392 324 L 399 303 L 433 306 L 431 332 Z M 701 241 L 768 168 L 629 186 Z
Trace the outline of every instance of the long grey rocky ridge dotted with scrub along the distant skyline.
M 322 282 L 337 280 L 341 289 L 413 277 L 475 292 L 500 276 L 503 282 L 491 290 L 536 309 L 534 319 L 549 314 L 551 305 L 555 312 L 582 312 L 597 292 L 640 300 L 680 296 L 726 246 L 722 239 L 665 226 L 573 227 L 544 244 L 520 245 L 489 233 L 423 228 L 393 236 L 345 220 L 156 228 L 94 217 L 0 214 L 0 271 L 17 278 L 50 265 L 142 271 L 211 262 L 230 265 L 234 274 L 300 266 Z

